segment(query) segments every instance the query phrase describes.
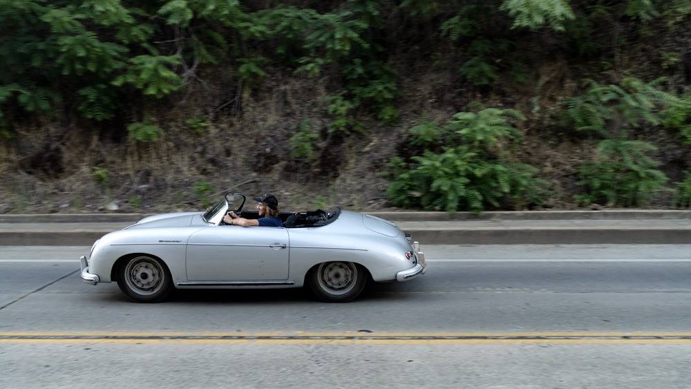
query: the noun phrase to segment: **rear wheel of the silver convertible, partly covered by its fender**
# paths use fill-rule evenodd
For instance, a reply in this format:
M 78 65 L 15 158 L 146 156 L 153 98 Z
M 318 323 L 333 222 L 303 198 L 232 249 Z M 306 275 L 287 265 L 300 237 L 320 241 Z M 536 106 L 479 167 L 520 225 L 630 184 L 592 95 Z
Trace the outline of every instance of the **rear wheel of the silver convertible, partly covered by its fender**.
M 356 298 L 367 284 L 368 272 L 352 262 L 325 262 L 310 272 L 310 289 L 321 301 L 345 303 Z

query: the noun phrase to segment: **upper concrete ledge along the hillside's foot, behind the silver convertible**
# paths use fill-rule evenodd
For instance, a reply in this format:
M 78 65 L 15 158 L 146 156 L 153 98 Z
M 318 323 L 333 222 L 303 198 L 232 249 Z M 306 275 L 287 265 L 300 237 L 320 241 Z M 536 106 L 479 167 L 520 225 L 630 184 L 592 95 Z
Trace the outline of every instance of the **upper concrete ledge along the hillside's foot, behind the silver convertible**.
M 395 211 L 367 212 L 391 221 L 454 220 L 672 220 L 691 219 L 690 211 L 667 209 L 633 209 L 614 211 L 488 211 L 480 215 L 469 212 Z M 155 214 L 0 214 L 0 222 L 66 223 L 66 222 L 136 222 Z

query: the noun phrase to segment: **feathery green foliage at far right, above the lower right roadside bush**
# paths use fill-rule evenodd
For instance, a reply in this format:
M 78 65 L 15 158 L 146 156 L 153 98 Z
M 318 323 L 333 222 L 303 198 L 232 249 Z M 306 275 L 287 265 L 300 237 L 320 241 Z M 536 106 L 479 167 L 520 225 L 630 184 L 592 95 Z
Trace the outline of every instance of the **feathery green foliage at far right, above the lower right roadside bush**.
M 681 100 L 656 88 L 661 79 L 644 83 L 628 77 L 619 85 L 600 85 L 591 81 L 588 90 L 566 100 L 566 115 L 576 131 L 616 136 L 626 126 L 638 127 L 647 122 L 660 124 L 664 108 L 681 104 Z

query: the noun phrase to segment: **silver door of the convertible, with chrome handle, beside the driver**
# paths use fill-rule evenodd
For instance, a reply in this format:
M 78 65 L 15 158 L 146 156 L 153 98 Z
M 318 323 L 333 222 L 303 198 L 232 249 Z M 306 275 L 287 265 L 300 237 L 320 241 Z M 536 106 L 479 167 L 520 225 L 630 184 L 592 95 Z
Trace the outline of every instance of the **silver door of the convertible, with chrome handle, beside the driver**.
M 187 242 L 189 281 L 267 281 L 288 278 L 288 233 L 282 227 L 222 225 Z

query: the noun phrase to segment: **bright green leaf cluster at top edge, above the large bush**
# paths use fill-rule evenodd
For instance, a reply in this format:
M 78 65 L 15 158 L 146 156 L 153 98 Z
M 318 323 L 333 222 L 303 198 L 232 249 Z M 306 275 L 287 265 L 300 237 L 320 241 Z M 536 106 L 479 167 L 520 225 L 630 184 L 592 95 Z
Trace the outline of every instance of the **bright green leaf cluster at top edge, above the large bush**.
M 576 18 L 567 0 L 505 0 L 500 10 L 514 18 L 512 28 L 537 30 L 549 24 L 555 31 L 564 31 L 564 22 Z

